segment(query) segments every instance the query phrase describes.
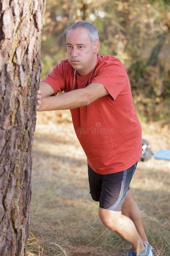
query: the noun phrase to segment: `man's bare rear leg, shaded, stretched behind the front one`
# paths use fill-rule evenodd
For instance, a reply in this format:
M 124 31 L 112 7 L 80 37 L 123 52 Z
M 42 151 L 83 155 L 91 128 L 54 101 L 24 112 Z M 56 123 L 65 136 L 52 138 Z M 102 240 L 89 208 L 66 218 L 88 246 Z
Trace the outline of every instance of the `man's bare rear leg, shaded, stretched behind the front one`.
M 131 219 L 136 227 L 138 234 L 140 235 L 142 241 L 147 241 L 148 239 L 145 234 L 145 230 L 142 225 L 142 216 L 141 212 L 134 201 L 130 189 L 127 192 L 126 199 L 122 205 L 122 213 L 129 219 Z

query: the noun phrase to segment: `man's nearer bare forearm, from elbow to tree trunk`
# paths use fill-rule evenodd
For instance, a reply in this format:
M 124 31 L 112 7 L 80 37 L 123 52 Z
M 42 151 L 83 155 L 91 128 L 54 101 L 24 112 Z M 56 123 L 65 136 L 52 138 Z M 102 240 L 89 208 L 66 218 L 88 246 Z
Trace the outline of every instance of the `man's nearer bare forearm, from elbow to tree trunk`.
M 58 96 L 42 98 L 41 102 L 41 107 L 38 111 L 72 109 L 90 104 L 89 95 L 84 89 L 77 89 Z

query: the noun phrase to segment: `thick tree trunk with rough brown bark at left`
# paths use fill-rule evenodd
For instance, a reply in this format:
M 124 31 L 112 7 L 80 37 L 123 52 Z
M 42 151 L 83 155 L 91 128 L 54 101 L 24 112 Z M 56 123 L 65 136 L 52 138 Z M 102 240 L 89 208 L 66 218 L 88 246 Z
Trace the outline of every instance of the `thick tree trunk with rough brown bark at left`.
M 45 0 L 0 0 L 0 255 L 27 255 Z

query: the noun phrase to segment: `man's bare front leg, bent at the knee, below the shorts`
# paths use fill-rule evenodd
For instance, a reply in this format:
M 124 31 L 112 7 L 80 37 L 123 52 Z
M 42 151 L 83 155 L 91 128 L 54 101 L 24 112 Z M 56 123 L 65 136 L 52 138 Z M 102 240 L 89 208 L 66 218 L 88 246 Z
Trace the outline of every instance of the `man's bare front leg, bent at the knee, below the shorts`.
M 145 251 L 142 239 L 131 219 L 121 212 L 106 210 L 99 207 L 99 216 L 103 224 L 132 244 L 134 252 Z

